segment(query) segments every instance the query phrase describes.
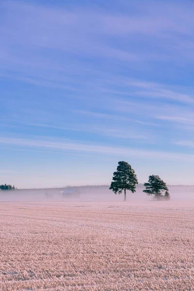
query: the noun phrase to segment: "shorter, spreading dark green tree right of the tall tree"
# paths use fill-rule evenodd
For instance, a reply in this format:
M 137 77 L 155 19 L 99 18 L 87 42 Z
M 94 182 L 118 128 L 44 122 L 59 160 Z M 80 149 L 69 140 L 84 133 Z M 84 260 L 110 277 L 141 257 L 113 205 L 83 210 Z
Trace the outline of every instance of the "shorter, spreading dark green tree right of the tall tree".
M 156 199 L 170 199 L 170 194 L 166 183 L 159 177 L 155 175 L 149 176 L 148 183 L 145 183 L 144 186 L 146 190 L 143 190 L 147 195 L 154 195 Z

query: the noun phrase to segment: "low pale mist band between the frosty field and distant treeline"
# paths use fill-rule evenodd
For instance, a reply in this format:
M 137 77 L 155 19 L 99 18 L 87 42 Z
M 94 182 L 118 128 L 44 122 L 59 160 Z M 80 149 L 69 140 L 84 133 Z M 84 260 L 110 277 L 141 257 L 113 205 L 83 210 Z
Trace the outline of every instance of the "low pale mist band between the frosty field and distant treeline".
M 173 201 L 194 201 L 194 186 L 168 186 Z M 74 198 L 63 197 L 63 192 L 66 188 L 53 188 L 53 189 L 30 189 L 30 190 L 15 190 L 15 191 L 1 191 L 0 201 L 123 201 L 124 194 L 114 194 L 109 190 L 109 186 L 81 186 L 73 187 L 78 189 L 80 197 Z M 69 189 L 69 188 L 67 188 Z M 71 189 L 71 188 L 70 188 Z M 153 201 L 152 196 L 143 193 L 145 187 L 140 184 L 136 188 L 135 193 L 127 191 L 127 200 L 139 202 Z M 73 190 L 72 190 L 73 191 Z

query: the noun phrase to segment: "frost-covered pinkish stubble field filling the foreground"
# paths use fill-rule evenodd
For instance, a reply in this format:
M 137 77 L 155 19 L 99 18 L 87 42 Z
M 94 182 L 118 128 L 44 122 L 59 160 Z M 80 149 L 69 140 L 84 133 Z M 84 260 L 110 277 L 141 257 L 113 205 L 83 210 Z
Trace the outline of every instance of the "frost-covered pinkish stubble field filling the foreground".
M 13 290 L 194 290 L 194 202 L 1 202 Z

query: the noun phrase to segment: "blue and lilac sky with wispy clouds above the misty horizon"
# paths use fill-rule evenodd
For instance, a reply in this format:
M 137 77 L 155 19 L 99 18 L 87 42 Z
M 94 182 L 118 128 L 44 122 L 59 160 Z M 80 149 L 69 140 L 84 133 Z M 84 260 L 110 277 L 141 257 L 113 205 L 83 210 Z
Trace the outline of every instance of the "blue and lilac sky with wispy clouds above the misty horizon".
M 0 1 L 0 184 L 194 184 L 194 2 Z

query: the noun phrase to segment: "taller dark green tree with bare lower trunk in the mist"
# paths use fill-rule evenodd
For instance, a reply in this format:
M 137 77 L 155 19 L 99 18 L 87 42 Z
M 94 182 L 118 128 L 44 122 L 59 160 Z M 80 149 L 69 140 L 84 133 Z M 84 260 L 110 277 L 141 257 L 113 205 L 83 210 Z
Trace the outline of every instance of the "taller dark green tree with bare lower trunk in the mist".
M 134 193 L 137 184 L 137 176 L 129 163 L 118 162 L 117 170 L 113 173 L 113 181 L 109 189 L 113 190 L 115 194 L 121 194 L 124 191 L 126 201 L 126 190 Z

